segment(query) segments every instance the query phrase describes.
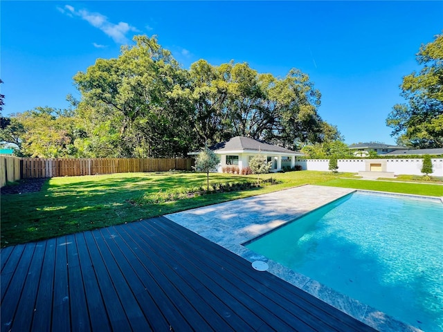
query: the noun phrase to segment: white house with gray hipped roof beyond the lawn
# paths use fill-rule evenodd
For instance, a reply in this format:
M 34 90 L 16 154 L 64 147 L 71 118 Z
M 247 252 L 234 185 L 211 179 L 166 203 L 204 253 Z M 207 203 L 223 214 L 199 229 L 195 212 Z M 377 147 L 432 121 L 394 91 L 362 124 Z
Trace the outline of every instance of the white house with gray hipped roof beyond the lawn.
M 277 172 L 282 167 L 294 167 L 296 157 L 303 156 L 300 152 L 241 136 L 213 145 L 209 149 L 220 157 L 218 172 L 222 172 L 222 167 L 228 165 L 238 166 L 241 172 L 244 167 L 248 167 L 249 160 L 259 153 L 266 156 L 266 159 L 271 162 L 271 172 Z M 190 155 L 197 154 L 199 152 L 190 153 Z

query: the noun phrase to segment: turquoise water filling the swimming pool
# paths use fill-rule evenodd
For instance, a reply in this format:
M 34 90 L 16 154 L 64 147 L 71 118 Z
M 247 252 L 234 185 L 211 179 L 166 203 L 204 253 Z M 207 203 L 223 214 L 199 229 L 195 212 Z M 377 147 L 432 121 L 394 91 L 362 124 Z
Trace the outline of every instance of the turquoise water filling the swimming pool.
M 397 320 L 443 331 L 443 204 L 356 192 L 247 248 Z

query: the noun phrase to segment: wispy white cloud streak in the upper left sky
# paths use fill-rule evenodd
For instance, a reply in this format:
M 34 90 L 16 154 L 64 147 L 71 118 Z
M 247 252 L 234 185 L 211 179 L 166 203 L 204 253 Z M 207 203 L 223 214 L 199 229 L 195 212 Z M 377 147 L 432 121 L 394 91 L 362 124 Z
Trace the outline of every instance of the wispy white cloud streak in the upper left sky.
M 89 24 L 91 24 L 91 26 L 102 30 L 107 36 L 114 39 L 114 42 L 118 44 L 125 44 L 128 42 L 126 35 L 129 33 L 129 31 L 138 31 L 134 26 L 130 26 L 126 22 L 119 22 L 118 24 L 111 23 L 105 15 L 98 12 L 88 12 L 84 9 L 75 10 L 73 6 L 69 5 L 64 6 L 64 8 L 57 9 L 68 16 L 77 16 L 84 19 L 84 21 L 87 21 Z M 96 45 L 94 44 L 94 46 Z

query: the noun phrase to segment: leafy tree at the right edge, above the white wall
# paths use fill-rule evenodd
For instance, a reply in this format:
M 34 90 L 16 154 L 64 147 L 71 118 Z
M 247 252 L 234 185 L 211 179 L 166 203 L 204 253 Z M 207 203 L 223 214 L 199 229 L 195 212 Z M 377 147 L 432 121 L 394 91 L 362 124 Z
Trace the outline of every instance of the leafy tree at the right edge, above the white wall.
M 396 104 L 386 119 L 391 136 L 408 147 L 443 147 L 443 35 L 420 47 L 417 62 L 423 65 L 403 77 L 401 96 L 408 104 Z

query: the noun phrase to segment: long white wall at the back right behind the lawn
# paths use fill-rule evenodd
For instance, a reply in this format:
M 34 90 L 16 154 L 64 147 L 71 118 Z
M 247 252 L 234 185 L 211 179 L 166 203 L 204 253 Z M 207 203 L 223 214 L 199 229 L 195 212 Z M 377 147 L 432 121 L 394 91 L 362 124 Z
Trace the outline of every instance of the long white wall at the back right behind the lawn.
M 423 175 L 423 159 L 338 159 L 338 172 L 358 173 L 370 171 L 370 165 L 380 163 L 383 172 L 393 172 L 395 175 Z M 329 171 L 329 159 L 296 160 L 296 165 L 309 171 Z M 432 176 L 443 176 L 443 158 L 433 158 Z

